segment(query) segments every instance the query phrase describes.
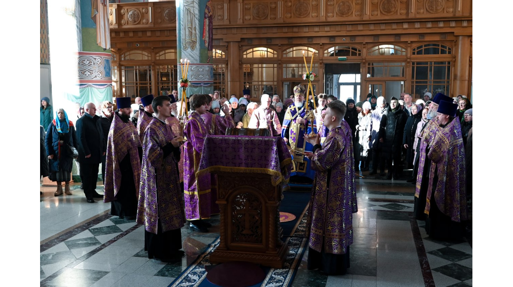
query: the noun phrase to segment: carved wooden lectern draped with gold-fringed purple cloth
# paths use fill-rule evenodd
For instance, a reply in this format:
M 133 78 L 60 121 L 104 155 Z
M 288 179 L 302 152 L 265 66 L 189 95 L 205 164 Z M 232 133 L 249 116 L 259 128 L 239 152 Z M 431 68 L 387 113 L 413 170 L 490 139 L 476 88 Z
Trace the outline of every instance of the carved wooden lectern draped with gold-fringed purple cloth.
M 220 244 L 210 262 L 283 268 L 289 248 L 280 239 L 279 206 L 290 169 L 281 138 L 207 136 L 198 172 L 218 176 L 221 210 Z

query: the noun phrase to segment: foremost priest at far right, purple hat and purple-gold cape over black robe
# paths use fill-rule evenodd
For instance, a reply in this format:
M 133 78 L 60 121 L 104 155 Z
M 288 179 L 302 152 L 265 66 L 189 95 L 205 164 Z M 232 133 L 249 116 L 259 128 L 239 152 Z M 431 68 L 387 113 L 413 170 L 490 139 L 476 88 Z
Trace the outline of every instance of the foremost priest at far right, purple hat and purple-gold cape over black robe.
M 459 239 L 465 232 L 465 146 L 457 109 L 452 101 L 440 102 L 440 130 L 427 154 L 431 166 L 424 212 L 428 215 L 426 233 L 435 239 Z

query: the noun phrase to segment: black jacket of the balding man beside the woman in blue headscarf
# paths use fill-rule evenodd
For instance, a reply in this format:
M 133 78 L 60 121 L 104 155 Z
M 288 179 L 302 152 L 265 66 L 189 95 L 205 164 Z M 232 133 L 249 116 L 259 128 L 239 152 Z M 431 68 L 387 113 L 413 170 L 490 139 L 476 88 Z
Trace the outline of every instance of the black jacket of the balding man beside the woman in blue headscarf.
M 107 151 L 103 144 L 103 128 L 100 117 L 85 114 L 76 121 L 76 141 L 80 164 L 96 164 L 102 162 L 103 153 Z M 107 139 L 105 139 L 107 140 Z M 86 158 L 88 154 L 91 157 Z

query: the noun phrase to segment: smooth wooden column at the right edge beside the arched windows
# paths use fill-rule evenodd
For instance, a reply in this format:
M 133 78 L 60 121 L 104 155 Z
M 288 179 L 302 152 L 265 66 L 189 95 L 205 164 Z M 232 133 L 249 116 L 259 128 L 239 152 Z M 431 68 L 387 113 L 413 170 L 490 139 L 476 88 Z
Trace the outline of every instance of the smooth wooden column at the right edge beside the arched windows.
M 456 41 L 456 62 L 452 87 L 454 97 L 468 95 L 470 70 L 470 36 L 458 36 Z

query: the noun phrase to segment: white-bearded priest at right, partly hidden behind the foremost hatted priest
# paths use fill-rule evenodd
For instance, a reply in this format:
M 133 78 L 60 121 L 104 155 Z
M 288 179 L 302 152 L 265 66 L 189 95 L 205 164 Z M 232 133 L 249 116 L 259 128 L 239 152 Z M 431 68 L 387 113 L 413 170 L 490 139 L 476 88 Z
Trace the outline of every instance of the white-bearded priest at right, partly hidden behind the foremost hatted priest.
M 429 185 L 431 160 L 427 157 L 429 148 L 438 132 L 440 131 L 437 119 L 437 109 L 440 101 L 452 101 L 442 93 L 438 93 L 433 101 L 429 104 L 429 112 L 427 118 L 429 122 L 424 126 L 420 133 L 419 147 L 419 172 L 417 173 L 417 184 L 415 189 L 415 200 L 413 205 L 413 215 L 417 220 L 426 220 L 424 209 L 426 207 L 426 194 Z

